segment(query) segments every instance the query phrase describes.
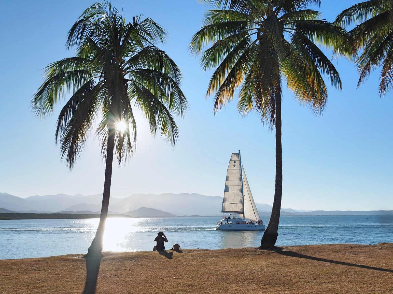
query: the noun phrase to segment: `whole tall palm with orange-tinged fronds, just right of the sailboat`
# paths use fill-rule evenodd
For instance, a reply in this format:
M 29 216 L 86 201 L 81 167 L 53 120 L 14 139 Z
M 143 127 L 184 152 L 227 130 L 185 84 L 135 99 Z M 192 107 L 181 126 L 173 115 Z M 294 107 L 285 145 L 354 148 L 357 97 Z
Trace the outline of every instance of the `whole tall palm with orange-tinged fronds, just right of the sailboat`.
M 208 10 L 203 27 L 192 38 L 191 53 L 202 53 L 204 70 L 215 69 L 207 96 L 214 94 L 216 113 L 239 89 L 237 109 L 255 110 L 263 123 L 275 127 L 275 192 L 272 216 L 260 248 L 274 247 L 282 196 L 281 83 L 301 104 L 321 114 L 327 103 L 323 75 L 341 89 L 334 65 L 318 45 L 333 47 L 345 40 L 345 31 L 320 12 L 307 9 L 320 0 L 204 0 Z

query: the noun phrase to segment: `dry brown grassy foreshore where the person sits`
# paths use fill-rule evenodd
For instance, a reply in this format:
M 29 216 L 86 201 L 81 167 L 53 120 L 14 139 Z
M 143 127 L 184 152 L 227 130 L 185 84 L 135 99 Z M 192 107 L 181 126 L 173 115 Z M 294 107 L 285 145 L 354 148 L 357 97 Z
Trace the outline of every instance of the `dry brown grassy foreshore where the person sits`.
M 98 294 L 393 293 L 393 243 L 106 252 Z M 0 260 L 0 293 L 81 293 L 81 254 Z

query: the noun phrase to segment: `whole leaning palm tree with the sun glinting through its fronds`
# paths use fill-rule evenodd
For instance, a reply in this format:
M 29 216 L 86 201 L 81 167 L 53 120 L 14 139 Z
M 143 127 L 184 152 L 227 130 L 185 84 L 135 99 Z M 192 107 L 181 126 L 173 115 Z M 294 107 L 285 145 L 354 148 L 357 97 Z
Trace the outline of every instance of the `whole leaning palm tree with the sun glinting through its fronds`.
M 187 100 L 179 84 L 177 65 L 155 45 L 166 31 L 151 18 L 134 16 L 126 22 L 109 3 L 86 9 L 68 32 L 68 49 L 75 57 L 49 64 L 45 81 L 32 98 L 33 111 L 43 118 L 53 112 L 62 97 L 70 96 L 57 120 L 56 142 L 62 159 L 72 169 L 83 150 L 86 136 L 101 114 L 97 135 L 105 160 L 105 182 L 101 216 L 86 257 L 101 257 L 108 214 L 112 162 L 121 165 L 136 147 L 135 109 L 172 145 L 178 128 L 172 113 L 183 116 Z M 131 128 L 131 129 L 130 129 Z

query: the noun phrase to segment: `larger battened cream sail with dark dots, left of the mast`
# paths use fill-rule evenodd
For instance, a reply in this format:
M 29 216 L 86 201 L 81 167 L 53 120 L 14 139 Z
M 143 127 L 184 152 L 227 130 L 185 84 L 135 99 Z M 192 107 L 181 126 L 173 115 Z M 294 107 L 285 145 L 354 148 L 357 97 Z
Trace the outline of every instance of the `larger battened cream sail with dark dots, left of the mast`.
M 239 153 L 232 153 L 229 161 L 221 212 L 243 213 Z

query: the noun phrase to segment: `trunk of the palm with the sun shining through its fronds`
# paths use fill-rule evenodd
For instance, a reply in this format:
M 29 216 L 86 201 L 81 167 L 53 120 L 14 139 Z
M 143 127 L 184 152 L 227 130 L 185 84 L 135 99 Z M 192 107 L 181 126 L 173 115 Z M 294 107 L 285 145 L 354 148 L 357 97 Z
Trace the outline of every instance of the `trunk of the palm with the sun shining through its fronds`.
M 109 122 L 108 143 L 107 143 L 107 161 L 105 164 L 105 182 L 104 192 L 102 196 L 101 215 L 95 237 L 88 249 L 84 258 L 101 258 L 103 247 L 103 236 L 105 230 L 105 221 L 108 216 L 109 196 L 110 196 L 110 183 L 112 181 L 112 163 L 113 163 L 113 150 L 115 145 L 115 125 L 112 120 Z

